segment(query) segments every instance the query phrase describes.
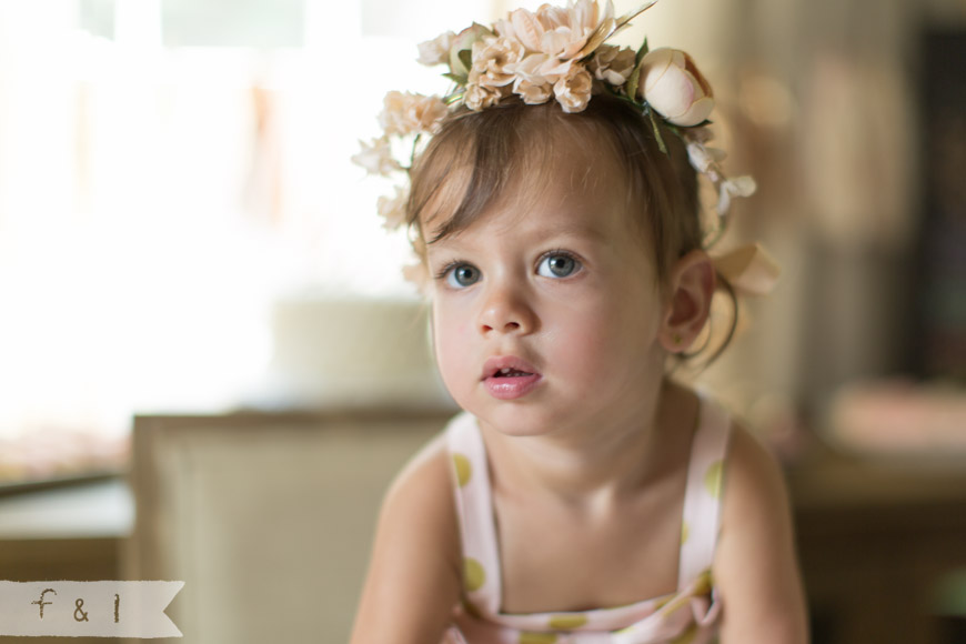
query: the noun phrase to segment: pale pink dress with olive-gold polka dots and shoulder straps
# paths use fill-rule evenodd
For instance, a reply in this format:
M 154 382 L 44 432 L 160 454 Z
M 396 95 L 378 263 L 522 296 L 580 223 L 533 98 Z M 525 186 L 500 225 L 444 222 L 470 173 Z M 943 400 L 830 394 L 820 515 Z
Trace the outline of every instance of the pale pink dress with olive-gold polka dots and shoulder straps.
M 703 644 L 715 641 L 721 603 L 711 575 L 731 422 L 701 399 L 681 527 L 677 591 L 583 612 L 501 612 L 501 572 L 486 449 L 467 413 L 446 427 L 463 552 L 463 610 L 444 644 Z

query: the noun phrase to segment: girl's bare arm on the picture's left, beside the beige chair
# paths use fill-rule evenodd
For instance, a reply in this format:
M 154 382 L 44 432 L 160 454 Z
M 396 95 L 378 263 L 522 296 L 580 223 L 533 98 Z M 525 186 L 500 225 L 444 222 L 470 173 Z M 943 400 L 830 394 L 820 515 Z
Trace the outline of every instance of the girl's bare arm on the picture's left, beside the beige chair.
M 460 544 L 442 436 L 393 483 L 351 644 L 440 642 L 460 595 Z

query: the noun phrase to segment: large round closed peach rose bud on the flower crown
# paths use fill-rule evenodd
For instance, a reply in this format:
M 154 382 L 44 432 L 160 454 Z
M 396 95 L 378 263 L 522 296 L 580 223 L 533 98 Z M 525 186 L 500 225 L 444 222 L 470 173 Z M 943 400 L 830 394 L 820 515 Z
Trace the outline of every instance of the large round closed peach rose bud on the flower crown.
M 644 57 L 637 93 L 668 123 L 683 128 L 702 123 L 714 109 L 711 85 L 680 49 L 663 47 Z

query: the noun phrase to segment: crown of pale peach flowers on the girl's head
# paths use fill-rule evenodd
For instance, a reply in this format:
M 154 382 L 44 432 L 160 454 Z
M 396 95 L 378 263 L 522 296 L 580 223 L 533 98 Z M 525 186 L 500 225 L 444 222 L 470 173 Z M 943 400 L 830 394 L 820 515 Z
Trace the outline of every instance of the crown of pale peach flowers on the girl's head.
M 725 153 L 706 145 L 712 138 L 707 118 L 714 109 L 707 80 L 681 50 L 648 50 L 646 39 L 636 51 L 606 43 L 656 2 L 648 0 L 620 18 L 614 18 L 612 0 L 603 9 L 596 0 L 568 0 L 565 8 L 543 4 L 535 13 L 517 9 L 490 28 L 474 22 L 460 33 L 447 31 L 421 43 L 419 62 L 445 64 L 443 77 L 453 82 L 452 89 L 443 97 L 389 92 L 379 115 L 382 137 L 361 142 L 362 151 L 352 160 L 371 174 L 405 180 L 410 167 L 393 154 L 393 141 L 412 143 L 411 165 L 420 140 L 437 133 L 446 115 L 461 105 L 481 111 L 511 95 L 526 104 L 553 98 L 572 113 L 586 109 L 594 95 L 607 93 L 650 119 L 663 152 L 667 150 L 658 122 L 683 139 L 691 164 L 717 191 L 716 228 L 723 233 L 732 198 L 751 195 L 755 182 L 751 177 L 727 178 L 721 168 Z M 406 222 L 407 200 L 403 185 L 396 185 L 393 197 L 379 199 L 385 228 Z M 733 286 L 745 291 L 765 292 L 777 276 L 774 261 L 758 245 L 738 249 L 715 263 Z M 742 274 L 729 274 L 735 270 Z M 751 283 L 743 283 L 749 281 L 749 271 Z

